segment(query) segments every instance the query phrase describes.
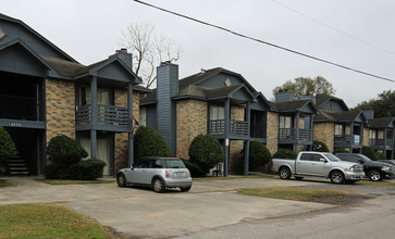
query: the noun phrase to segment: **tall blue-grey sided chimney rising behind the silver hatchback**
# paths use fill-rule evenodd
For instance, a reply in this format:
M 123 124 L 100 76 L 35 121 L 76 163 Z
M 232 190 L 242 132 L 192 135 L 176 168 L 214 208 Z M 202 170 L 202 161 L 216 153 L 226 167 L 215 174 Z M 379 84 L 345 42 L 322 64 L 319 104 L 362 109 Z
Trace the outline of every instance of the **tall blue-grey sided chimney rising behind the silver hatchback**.
M 178 93 L 178 65 L 162 62 L 157 68 L 158 131 L 166 141 L 172 156 L 176 156 L 176 108 L 172 97 Z

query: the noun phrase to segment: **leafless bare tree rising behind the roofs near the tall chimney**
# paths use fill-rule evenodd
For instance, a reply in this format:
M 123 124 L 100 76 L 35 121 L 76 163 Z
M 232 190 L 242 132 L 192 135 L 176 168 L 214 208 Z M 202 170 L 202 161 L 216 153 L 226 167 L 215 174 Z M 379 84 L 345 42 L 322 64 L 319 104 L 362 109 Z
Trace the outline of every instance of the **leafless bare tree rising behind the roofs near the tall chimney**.
M 149 88 L 157 79 L 156 67 L 161 62 L 176 62 L 182 47 L 175 40 L 155 35 L 155 26 L 150 23 L 131 24 L 123 32 L 121 47 L 133 54 L 133 70 L 141 77 Z

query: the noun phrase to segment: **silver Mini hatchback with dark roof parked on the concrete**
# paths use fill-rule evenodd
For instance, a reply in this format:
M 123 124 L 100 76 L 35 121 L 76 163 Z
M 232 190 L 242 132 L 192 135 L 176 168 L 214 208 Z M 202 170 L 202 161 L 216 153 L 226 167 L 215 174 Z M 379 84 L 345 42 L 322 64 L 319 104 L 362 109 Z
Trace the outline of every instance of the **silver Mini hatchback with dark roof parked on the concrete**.
M 152 187 L 156 192 L 163 192 L 165 188 L 189 191 L 192 177 L 180 159 L 147 156 L 137 160 L 131 168 L 120 169 L 116 173 L 116 183 L 119 187 Z

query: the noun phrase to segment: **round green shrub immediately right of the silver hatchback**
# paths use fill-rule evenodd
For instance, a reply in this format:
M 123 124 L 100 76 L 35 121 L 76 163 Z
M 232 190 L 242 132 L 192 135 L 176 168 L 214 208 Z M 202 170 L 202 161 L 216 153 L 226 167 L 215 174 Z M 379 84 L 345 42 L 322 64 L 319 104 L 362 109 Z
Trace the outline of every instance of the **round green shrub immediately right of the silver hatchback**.
M 211 135 L 198 135 L 188 150 L 189 160 L 197 164 L 206 174 L 225 159 L 220 141 Z

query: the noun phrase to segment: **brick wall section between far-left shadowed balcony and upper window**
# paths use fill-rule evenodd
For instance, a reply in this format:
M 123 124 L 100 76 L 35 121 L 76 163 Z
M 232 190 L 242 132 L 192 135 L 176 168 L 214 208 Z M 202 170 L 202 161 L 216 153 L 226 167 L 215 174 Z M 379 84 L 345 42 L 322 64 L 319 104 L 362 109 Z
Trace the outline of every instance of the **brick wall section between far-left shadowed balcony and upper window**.
M 75 138 L 74 83 L 46 79 L 47 142 L 54 136 Z

